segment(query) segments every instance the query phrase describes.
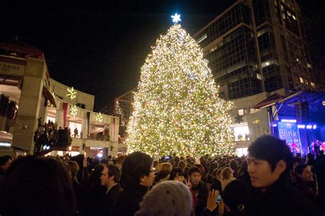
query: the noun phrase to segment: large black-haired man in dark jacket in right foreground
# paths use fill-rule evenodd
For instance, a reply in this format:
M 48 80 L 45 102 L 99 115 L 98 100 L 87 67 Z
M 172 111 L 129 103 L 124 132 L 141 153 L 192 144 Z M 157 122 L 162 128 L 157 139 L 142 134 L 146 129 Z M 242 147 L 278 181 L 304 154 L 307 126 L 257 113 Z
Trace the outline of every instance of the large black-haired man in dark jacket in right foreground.
M 249 215 L 320 215 L 308 197 L 288 186 L 292 160 L 287 144 L 274 136 L 261 136 L 248 147 L 254 187 Z

